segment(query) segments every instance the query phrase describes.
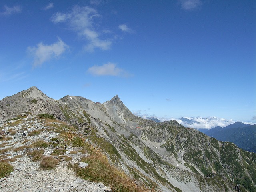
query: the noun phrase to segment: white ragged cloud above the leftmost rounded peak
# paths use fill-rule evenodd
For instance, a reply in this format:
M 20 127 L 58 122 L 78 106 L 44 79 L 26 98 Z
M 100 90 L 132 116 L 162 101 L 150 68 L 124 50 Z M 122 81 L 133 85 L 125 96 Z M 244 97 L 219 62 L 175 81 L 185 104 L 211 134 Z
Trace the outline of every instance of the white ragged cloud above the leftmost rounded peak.
M 28 47 L 28 52 L 34 57 L 33 65 L 39 66 L 54 57 L 59 57 L 67 49 L 68 45 L 58 38 L 56 43 L 50 45 L 44 45 L 40 42 L 36 47 Z

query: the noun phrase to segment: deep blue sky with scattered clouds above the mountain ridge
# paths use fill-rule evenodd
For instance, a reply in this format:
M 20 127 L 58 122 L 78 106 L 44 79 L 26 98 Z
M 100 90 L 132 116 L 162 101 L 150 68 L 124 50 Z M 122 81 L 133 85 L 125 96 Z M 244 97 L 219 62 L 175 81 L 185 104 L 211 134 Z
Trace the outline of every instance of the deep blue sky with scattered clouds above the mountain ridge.
M 0 99 L 49 97 L 134 114 L 256 122 L 255 0 L 0 2 Z

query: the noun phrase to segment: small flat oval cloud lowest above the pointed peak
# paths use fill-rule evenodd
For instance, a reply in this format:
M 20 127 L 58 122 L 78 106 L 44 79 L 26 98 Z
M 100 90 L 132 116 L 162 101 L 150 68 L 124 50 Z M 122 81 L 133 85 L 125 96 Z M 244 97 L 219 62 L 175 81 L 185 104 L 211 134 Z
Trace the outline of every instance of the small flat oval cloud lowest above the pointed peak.
M 88 72 L 95 76 L 130 76 L 128 72 L 121 68 L 118 68 L 116 64 L 111 62 L 108 62 L 102 66 L 92 66 L 88 69 Z

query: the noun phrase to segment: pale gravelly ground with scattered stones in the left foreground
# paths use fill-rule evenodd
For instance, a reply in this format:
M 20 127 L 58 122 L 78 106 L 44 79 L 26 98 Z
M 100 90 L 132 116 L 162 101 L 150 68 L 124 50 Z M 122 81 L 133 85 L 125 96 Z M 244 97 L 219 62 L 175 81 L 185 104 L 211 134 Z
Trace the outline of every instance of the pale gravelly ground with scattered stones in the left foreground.
M 54 122 L 54 126 L 56 125 L 58 123 Z M 40 161 L 32 161 L 28 152 L 39 149 L 39 147 L 36 149 L 29 147 L 33 142 L 50 142 L 52 138 L 58 136 L 58 133 L 54 131 L 49 132 L 49 128 L 50 126 L 46 126 L 43 120 L 38 120 L 32 116 L 0 123 L 0 161 L 9 162 L 13 166 L 13 172 L 0 179 L 0 191 L 111 191 L 109 187 L 104 186 L 101 182 L 95 183 L 79 178 L 72 169 L 68 168 L 68 164 L 78 163 L 81 156 L 88 155 L 78 152 L 79 148 L 77 147 L 69 146 L 66 148 L 64 155 L 56 156 L 56 158 L 60 158 L 60 163 L 51 170 L 40 168 Z M 31 134 L 36 131 L 40 133 Z M 44 156 L 52 156 L 52 152 L 56 147 L 49 145 L 40 149 L 44 150 Z M 68 159 L 68 161 L 64 159 Z

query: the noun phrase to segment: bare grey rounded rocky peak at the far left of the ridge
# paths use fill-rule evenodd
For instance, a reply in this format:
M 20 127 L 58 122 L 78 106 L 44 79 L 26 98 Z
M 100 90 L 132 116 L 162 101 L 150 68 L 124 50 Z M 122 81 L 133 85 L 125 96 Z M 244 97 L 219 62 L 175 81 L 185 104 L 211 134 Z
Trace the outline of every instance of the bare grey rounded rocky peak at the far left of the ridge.
M 31 87 L 0 101 L 0 120 L 8 120 L 23 113 L 49 113 L 60 120 L 65 120 L 58 104 L 58 101 L 49 98 L 38 88 Z

